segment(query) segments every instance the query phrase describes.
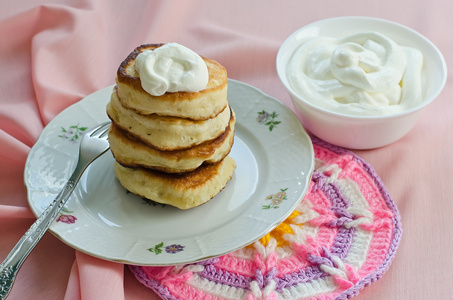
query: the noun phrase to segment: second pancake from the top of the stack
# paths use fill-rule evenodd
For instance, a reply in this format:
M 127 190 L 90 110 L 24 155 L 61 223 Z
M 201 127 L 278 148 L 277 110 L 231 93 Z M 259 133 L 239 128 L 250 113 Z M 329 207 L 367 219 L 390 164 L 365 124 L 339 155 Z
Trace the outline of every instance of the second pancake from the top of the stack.
M 227 107 L 212 119 L 194 121 L 155 114 L 141 115 L 123 107 L 115 88 L 107 104 L 109 118 L 122 130 L 159 150 L 185 149 L 217 138 L 228 126 Z

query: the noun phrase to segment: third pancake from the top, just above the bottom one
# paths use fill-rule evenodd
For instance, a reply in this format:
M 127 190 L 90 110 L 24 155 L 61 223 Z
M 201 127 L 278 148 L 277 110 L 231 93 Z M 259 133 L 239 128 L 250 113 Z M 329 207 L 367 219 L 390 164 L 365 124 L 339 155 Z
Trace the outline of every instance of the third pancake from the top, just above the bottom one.
M 123 166 L 145 167 L 169 173 L 188 172 L 203 163 L 217 163 L 230 153 L 234 142 L 234 125 L 235 116 L 231 110 L 229 125 L 216 139 L 188 149 L 161 151 L 142 143 L 112 122 L 109 130 L 110 150 Z

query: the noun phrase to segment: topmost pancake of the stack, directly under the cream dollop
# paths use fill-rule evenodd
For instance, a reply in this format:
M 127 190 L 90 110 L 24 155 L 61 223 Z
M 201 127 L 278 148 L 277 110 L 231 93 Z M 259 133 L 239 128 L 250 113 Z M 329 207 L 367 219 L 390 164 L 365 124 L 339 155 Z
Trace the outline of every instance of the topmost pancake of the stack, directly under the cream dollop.
M 162 45 L 139 46 L 121 63 L 116 83 L 123 106 L 144 115 L 157 114 L 194 120 L 210 119 L 222 112 L 228 105 L 227 72 L 221 64 L 209 58 L 202 57 L 209 72 L 208 85 L 202 91 L 167 92 L 162 96 L 153 96 L 142 88 L 140 77 L 135 70 L 135 58 L 144 50 L 153 50 Z

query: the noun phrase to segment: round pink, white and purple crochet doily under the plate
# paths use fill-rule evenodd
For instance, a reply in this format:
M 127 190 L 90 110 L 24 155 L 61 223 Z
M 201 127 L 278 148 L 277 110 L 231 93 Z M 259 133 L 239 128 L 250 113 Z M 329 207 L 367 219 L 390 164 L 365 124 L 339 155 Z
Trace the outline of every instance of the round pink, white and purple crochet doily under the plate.
M 316 167 L 296 210 L 252 245 L 198 263 L 129 266 L 162 299 L 348 299 L 389 268 L 402 228 L 373 168 L 313 139 Z

